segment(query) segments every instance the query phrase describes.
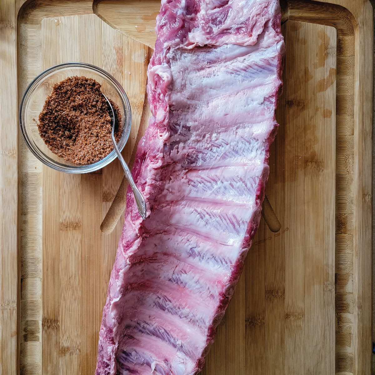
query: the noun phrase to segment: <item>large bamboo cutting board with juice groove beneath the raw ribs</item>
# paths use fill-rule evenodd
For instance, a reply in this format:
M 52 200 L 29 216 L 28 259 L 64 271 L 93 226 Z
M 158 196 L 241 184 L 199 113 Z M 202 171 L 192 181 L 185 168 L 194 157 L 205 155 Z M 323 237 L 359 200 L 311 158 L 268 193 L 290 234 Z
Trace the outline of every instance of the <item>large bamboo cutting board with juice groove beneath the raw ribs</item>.
M 281 126 L 266 188 L 282 229 L 261 220 L 205 375 L 371 372 L 373 10 L 331 2 L 283 4 Z M 46 168 L 17 132 L 20 98 L 48 66 L 104 68 L 132 106 L 130 160 L 148 123 L 159 6 L 1 2 L 0 374 L 93 374 L 123 224 L 99 229 L 119 163 L 81 176 Z

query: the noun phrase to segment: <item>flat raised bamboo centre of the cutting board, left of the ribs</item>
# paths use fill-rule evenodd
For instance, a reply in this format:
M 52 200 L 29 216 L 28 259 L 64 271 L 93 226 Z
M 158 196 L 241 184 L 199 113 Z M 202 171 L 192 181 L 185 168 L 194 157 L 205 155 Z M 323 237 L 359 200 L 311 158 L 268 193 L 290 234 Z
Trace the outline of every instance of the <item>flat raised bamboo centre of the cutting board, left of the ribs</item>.
M 43 69 L 87 62 L 121 83 L 132 108 L 132 129 L 122 152 L 128 162 L 143 110 L 148 47 L 95 14 L 45 18 L 41 40 Z M 51 54 L 51 49 L 59 53 Z M 62 174 L 47 166 L 42 174 L 42 373 L 93 374 L 101 305 L 121 223 L 111 236 L 104 236 L 98 226 L 123 170 L 116 162 L 87 175 Z

